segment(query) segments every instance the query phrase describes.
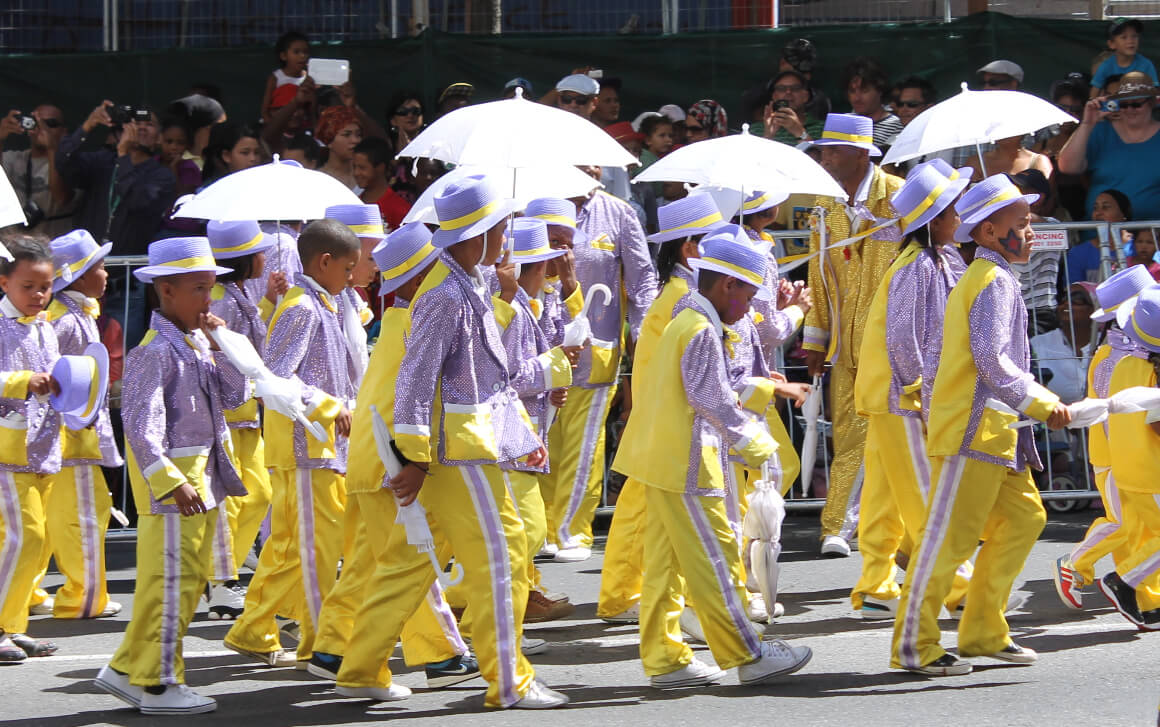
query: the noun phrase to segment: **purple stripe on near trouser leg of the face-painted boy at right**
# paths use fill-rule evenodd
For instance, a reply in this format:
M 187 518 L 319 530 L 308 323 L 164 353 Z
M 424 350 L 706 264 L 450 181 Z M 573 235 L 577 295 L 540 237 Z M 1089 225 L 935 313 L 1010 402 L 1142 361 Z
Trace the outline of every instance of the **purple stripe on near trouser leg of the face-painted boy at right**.
M 926 599 L 927 584 L 935 562 L 938 560 L 938 551 L 942 550 L 943 540 L 947 538 L 948 521 L 951 510 L 955 509 L 955 496 L 958 494 L 958 486 L 963 480 L 963 467 L 966 466 L 966 458 L 954 455 L 943 459 L 941 477 L 935 494 L 936 500 L 928 509 L 926 530 L 922 533 L 922 541 L 919 544 L 919 555 L 915 559 L 913 573 L 911 573 L 911 590 L 906 601 L 906 611 L 901 615 L 902 628 L 899 637 L 899 660 L 906 667 L 921 667 L 919 652 L 915 645 L 918 639 L 919 621 L 922 616 L 922 602 Z

